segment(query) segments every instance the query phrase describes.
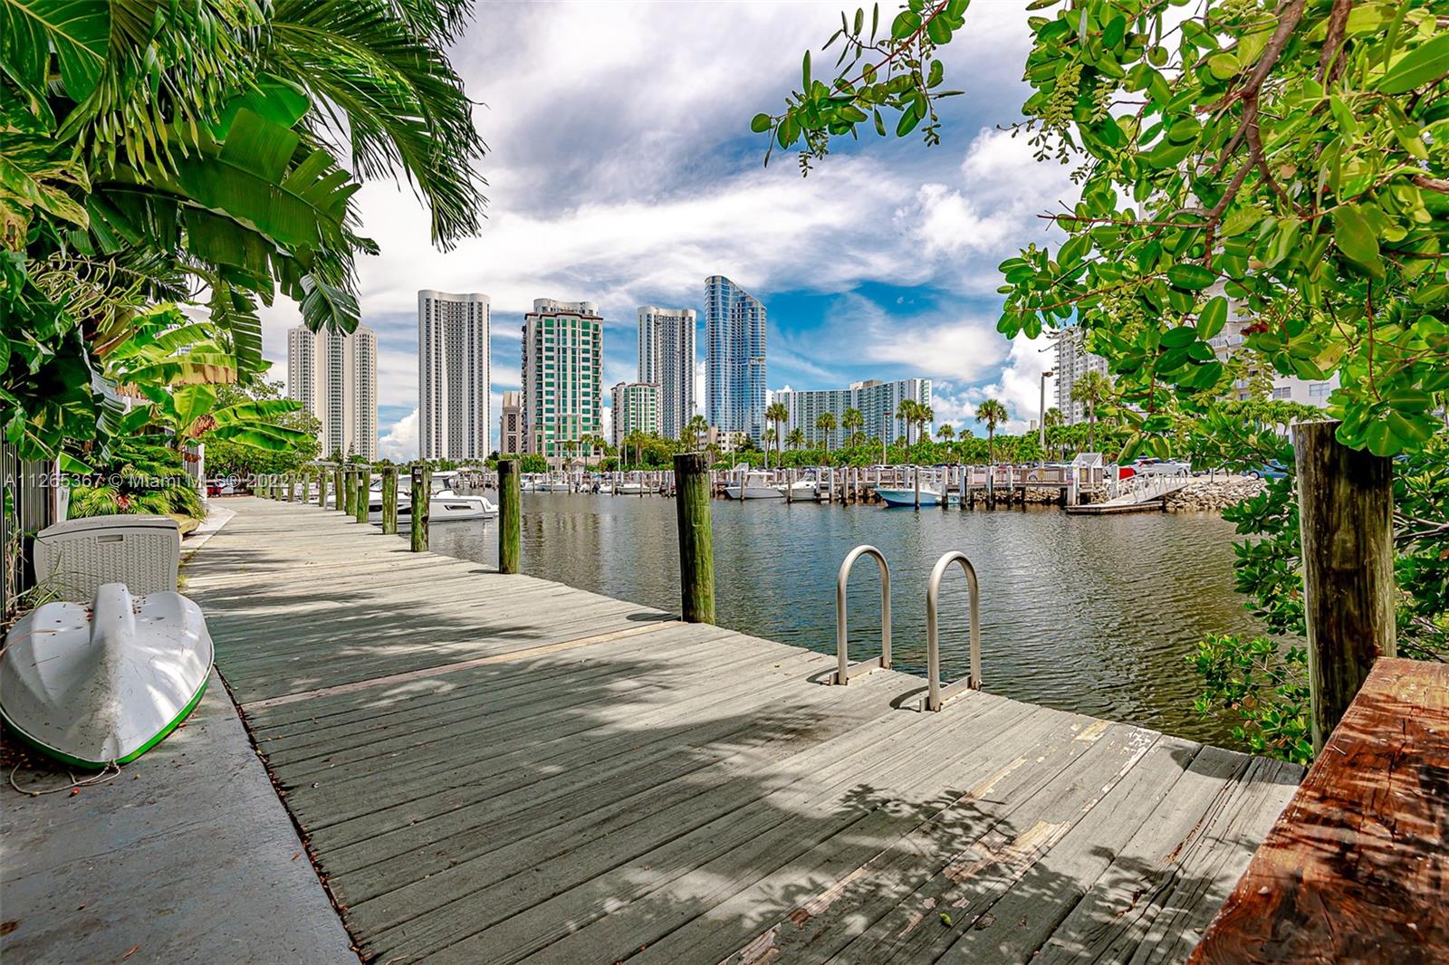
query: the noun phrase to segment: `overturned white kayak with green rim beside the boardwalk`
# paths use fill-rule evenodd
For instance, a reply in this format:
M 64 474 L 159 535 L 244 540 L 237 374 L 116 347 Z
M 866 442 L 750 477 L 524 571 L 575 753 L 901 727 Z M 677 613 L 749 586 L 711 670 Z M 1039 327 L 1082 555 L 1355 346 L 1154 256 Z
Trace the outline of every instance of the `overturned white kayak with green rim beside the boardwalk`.
M 194 603 L 107 582 L 94 606 L 46 603 L 14 624 L 0 716 L 65 764 L 126 764 L 187 719 L 210 672 L 212 636 Z

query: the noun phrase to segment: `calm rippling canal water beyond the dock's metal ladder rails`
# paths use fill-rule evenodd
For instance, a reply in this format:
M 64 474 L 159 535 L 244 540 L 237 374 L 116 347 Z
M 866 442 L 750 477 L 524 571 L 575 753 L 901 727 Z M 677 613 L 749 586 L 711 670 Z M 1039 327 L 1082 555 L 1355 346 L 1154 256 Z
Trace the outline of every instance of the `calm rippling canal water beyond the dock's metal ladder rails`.
M 981 584 L 985 690 L 1229 743 L 1220 720 L 1191 709 L 1184 664 L 1207 632 L 1250 632 L 1232 590 L 1233 529 L 1216 516 L 1066 516 L 1056 509 L 887 510 L 784 501 L 711 503 L 719 622 L 835 653 L 835 577 L 859 543 L 891 565 L 893 652 L 924 674 L 926 580 L 946 551 L 965 552 Z M 497 562 L 497 526 L 433 526 L 432 548 Z M 604 596 L 678 611 L 674 500 L 523 494 L 523 569 Z M 851 580 L 852 656 L 880 646 L 880 575 Z M 942 665 L 966 669 L 966 590 L 942 590 Z

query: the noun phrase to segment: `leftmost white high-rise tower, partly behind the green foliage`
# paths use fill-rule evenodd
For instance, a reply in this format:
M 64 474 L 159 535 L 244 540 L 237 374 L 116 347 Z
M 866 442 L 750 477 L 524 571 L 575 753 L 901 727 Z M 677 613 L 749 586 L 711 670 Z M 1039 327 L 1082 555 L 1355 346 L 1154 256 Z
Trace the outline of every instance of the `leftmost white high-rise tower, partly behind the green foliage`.
M 377 333 L 287 329 L 287 396 L 317 417 L 323 459 L 377 459 Z

